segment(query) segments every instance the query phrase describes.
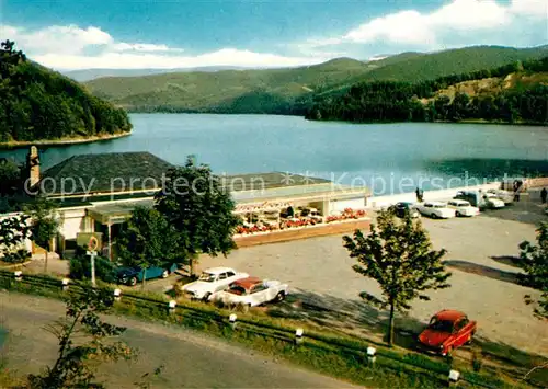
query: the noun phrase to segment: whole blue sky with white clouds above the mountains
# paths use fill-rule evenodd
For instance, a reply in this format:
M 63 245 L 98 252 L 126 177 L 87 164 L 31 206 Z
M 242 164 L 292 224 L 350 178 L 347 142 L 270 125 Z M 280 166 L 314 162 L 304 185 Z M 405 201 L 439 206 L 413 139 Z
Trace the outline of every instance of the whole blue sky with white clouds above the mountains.
M 548 44 L 548 0 L 0 0 L 0 39 L 57 70 L 288 67 Z

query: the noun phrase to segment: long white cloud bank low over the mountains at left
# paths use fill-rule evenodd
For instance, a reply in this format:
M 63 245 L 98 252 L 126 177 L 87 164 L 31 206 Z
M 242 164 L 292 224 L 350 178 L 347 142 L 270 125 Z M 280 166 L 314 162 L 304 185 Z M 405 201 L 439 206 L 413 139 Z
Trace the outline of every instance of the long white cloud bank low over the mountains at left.
M 285 57 L 237 48 L 222 48 L 196 56 L 182 48 L 149 43 L 116 42 L 101 28 L 77 25 L 49 26 L 37 31 L 0 25 L 0 38 L 15 41 L 30 58 L 57 70 L 73 69 L 173 69 L 204 66 L 290 67 L 319 64 L 324 56 Z M 92 50 L 93 55 L 89 54 Z

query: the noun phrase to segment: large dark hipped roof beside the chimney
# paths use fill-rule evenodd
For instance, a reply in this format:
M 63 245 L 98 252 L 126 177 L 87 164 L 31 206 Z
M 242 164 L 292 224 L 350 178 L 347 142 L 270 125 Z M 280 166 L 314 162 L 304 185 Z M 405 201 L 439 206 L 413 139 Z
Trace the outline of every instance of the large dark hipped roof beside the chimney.
M 73 156 L 42 174 L 41 190 L 49 196 L 150 191 L 162 186 L 170 168 L 150 152 Z

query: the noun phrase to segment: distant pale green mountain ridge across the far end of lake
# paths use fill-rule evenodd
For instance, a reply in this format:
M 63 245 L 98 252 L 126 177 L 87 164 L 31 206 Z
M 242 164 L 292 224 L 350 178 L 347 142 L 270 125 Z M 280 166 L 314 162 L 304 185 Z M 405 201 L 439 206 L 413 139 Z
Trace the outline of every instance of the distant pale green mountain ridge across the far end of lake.
M 374 61 L 335 58 L 297 68 L 109 77 L 85 85 L 132 112 L 301 115 L 317 96 L 339 95 L 359 82 L 433 80 L 546 55 L 548 46 L 473 46 L 431 54 L 401 53 Z

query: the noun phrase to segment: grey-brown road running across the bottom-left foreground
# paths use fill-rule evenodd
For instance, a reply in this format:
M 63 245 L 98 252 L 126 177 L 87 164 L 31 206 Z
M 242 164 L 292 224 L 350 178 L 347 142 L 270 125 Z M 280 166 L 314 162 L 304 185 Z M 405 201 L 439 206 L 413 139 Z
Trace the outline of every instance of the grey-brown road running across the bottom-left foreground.
M 43 330 L 60 318 L 62 302 L 0 291 L 0 327 L 8 339 L 0 352 L 20 374 L 38 373 L 56 355 L 56 339 Z M 352 388 L 251 350 L 173 325 L 119 317 L 109 322 L 128 330 L 123 339 L 140 352 L 135 362 L 103 365 L 107 388 L 135 388 L 144 373 L 164 364 L 152 388 Z

